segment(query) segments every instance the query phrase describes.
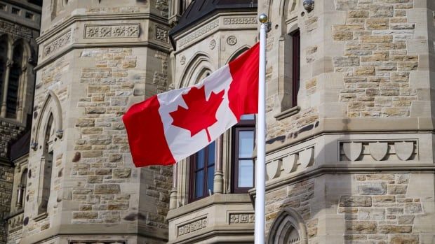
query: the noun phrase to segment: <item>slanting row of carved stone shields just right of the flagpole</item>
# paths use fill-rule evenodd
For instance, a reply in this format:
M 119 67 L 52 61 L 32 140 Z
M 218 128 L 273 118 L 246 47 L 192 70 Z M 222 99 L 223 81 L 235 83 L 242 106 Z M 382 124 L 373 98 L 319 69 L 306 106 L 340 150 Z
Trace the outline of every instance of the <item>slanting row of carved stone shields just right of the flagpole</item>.
M 266 173 L 269 180 L 279 178 L 283 173 L 289 174 L 297 170 L 297 166 L 308 168 L 314 165 L 314 146 L 311 145 L 302 150 L 283 155 L 278 159 L 273 159 L 266 164 Z

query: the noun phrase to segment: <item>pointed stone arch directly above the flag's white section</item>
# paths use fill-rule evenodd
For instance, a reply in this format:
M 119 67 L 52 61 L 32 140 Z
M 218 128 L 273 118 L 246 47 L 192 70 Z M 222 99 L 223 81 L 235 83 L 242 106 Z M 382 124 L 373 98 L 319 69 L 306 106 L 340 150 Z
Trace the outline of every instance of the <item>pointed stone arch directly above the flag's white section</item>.
M 178 88 L 194 85 L 195 79 L 204 70 L 214 71 L 210 60 L 210 57 L 205 52 L 197 52 L 183 71 Z

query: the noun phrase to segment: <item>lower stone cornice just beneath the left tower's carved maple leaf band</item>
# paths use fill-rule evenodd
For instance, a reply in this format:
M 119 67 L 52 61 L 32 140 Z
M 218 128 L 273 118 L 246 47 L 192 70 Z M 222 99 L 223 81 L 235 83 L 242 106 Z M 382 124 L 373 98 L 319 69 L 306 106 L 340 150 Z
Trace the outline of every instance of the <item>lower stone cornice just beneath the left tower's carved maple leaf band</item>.
M 125 41 L 125 42 L 107 42 L 107 43 L 76 43 L 69 45 L 65 50 L 62 50 L 55 55 L 45 59 L 43 62 L 38 64 L 38 66 L 34 67 L 35 71 L 44 68 L 47 64 L 51 64 L 58 57 L 65 55 L 67 52 L 70 52 L 74 49 L 84 49 L 84 48 L 134 48 L 134 47 L 144 47 L 144 48 L 153 48 L 155 50 L 159 50 L 161 52 L 169 53 L 168 48 L 163 45 L 157 45 L 156 43 L 152 43 L 149 41 Z

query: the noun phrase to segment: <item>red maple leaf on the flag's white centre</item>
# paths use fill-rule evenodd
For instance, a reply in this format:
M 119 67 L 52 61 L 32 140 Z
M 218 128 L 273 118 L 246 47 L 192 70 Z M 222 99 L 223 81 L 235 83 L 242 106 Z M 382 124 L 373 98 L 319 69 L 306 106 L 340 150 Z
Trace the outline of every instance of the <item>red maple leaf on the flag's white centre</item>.
M 182 129 L 190 131 L 190 136 L 198 134 L 203 129 L 207 132 L 208 142 L 211 141 L 208 127 L 217 122 L 216 111 L 222 103 L 225 90 L 219 93 L 211 92 L 210 98 L 206 100 L 204 86 L 201 88 L 192 87 L 187 94 L 182 94 L 182 98 L 187 104 L 187 109 L 178 106 L 177 110 L 170 112 L 173 118 L 172 124 Z

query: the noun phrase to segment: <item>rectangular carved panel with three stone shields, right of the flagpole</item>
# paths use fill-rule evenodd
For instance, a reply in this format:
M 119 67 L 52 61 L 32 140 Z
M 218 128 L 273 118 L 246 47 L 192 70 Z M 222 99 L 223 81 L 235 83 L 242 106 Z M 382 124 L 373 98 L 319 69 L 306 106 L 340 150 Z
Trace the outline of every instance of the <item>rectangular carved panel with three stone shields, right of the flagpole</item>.
M 340 142 L 340 161 L 408 161 L 417 157 L 417 141 Z

